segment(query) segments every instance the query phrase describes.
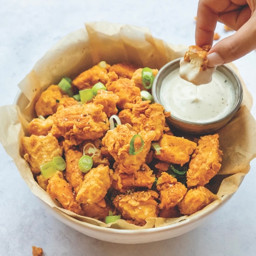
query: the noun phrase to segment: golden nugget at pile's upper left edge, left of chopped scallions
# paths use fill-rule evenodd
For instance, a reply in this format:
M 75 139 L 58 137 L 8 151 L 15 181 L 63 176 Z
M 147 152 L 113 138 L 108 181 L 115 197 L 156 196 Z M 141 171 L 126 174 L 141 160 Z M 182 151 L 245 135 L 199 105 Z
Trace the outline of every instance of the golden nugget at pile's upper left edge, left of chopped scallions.
M 56 113 L 61 105 L 70 106 L 76 103 L 73 97 L 69 97 L 59 86 L 52 84 L 40 95 L 35 104 L 35 110 L 37 116 L 47 117 Z

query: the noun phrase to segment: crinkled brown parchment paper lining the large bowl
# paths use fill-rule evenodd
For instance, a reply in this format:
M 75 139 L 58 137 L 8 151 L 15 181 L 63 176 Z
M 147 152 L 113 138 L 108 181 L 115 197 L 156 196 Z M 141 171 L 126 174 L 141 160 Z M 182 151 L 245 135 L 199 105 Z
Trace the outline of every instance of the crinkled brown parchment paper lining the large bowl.
M 154 38 L 147 28 L 108 22 L 86 23 L 85 29 L 71 32 L 54 45 L 18 84 L 21 92 L 15 104 L 0 107 L 0 140 L 31 192 L 50 207 L 56 207 L 60 214 L 73 216 L 81 225 L 90 223 L 118 229 L 143 229 L 170 225 L 194 216 L 200 218 L 201 215 L 218 208 L 222 198 L 237 191 L 242 179 L 250 170 L 250 161 L 256 156 L 256 123 L 250 113 L 252 96 L 244 82 L 244 99 L 240 110 L 219 130 L 220 148 L 224 156 L 219 174 L 209 185 L 219 199 L 191 216 L 172 219 L 149 218 L 145 226 L 139 227 L 124 220 L 106 225 L 101 221 L 74 214 L 63 209 L 38 186 L 28 163 L 20 154 L 20 138 L 28 135 L 27 124 L 35 117 L 35 100 L 50 84 L 57 84 L 63 76 L 74 78 L 102 60 L 109 64 L 127 61 L 139 67 L 160 69 L 167 62 L 183 56 L 186 50 L 185 45 L 170 44 Z M 237 68 L 233 64 L 230 65 L 238 73 Z

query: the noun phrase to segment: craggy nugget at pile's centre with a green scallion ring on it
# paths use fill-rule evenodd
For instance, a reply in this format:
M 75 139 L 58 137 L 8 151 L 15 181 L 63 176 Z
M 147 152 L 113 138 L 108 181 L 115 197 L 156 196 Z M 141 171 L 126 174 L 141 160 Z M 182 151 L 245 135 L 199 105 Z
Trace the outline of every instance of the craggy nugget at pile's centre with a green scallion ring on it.
M 115 129 L 108 130 L 102 139 L 102 145 L 107 148 L 108 152 L 119 164 L 120 173 L 133 174 L 140 169 L 141 165 L 146 161 L 155 132 L 141 131 L 139 135 L 144 142 L 144 146 L 139 153 L 130 154 L 130 142 L 135 135 L 137 133 L 132 130 L 129 124 L 120 124 Z M 142 146 L 140 137 L 134 141 L 135 152 Z

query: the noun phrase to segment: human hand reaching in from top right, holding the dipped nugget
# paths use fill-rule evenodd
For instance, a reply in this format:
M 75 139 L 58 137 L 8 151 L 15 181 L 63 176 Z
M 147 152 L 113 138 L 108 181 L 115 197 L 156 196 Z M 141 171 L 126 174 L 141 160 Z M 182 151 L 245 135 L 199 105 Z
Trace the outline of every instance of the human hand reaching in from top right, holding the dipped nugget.
M 208 65 L 225 64 L 256 48 L 256 0 L 199 0 L 195 43 L 212 45 L 219 21 L 236 32 L 216 43 L 209 50 Z

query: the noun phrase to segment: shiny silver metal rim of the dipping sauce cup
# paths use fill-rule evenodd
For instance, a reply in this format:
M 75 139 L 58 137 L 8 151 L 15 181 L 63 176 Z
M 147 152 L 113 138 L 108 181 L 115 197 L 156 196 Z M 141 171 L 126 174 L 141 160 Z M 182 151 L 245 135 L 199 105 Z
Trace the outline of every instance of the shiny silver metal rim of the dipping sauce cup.
M 159 69 L 159 72 L 156 74 L 156 76 L 154 78 L 154 81 L 153 81 L 153 85 L 152 85 L 152 96 L 153 96 L 153 99 L 154 99 L 155 102 L 158 102 L 158 103 L 162 104 L 161 100 L 160 100 L 160 95 L 158 95 L 157 92 L 156 92 L 157 91 L 156 90 L 156 84 L 159 81 L 159 77 L 160 77 L 161 73 L 164 70 L 168 69 L 169 67 L 172 67 L 173 65 L 179 65 L 181 59 L 182 59 L 182 57 L 176 58 L 175 60 L 172 60 L 172 61 L 166 63 L 165 65 L 163 65 L 162 68 Z M 238 111 L 238 109 L 241 106 L 242 99 L 243 99 L 243 96 L 244 96 L 243 87 L 242 87 L 242 82 L 241 82 L 238 74 L 235 73 L 235 71 L 231 67 L 229 67 L 228 64 L 220 65 L 220 66 L 216 67 L 216 70 L 220 71 L 220 69 L 223 69 L 223 68 L 226 69 L 229 73 L 232 73 L 232 75 L 234 76 L 235 81 L 237 81 L 237 84 L 238 84 L 238 100 L 235 102 L 235 104 L 233 105 L 232 109 L 229 111 L 228 114 L 222 116 L 221 119 L 218 119 L 218 120 L 215 120 L 215 121 L 209 121 L 209 122 L 186 121 L 186 120 L 180 119 L 179 117 L 176 117 L 173 114 L 170 116 L 170 118 L 175 120 L 176 122 L 190 124 L 191 126 L 194 126 L 194 127 L 201 127 L 201 126 L 206 126 L 206 125 L 211 126 L 213 124 L 221 123 L 224 120 L 228 119 L 228 117 L 232 117 Z M 170 73 L 168 73 L 168 74 L 170 74 Z M 163 106 L 163 104 L 162 104 L 162 106 Z M 165 106 L 163 106 L 163 107 L 165 107 Z

